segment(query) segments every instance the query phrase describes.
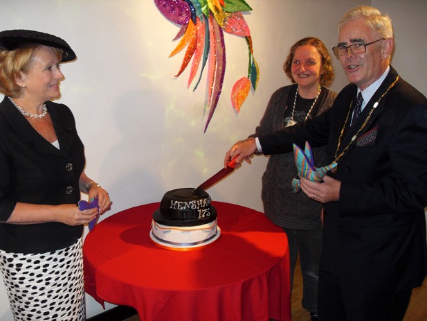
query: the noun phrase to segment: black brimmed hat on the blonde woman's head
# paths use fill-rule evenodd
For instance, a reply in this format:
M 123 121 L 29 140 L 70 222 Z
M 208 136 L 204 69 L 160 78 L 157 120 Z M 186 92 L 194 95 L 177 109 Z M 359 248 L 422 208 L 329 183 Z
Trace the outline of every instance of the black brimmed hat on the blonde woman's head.
M 23 44 L 42 44 L 43 46 L 51 46 L 62 51 L 62 60 L 60 62 L 67 62 L 75 60 L 76 55 L 69 46 L 60 37 L 49 35 L 48 33 L 41 33 L 33 30 L 6 30 L 0 32 L 0 47 L 7 50 L 15 50 Z

